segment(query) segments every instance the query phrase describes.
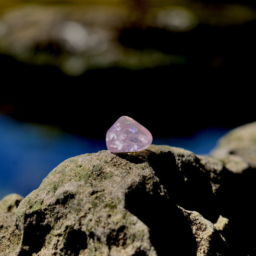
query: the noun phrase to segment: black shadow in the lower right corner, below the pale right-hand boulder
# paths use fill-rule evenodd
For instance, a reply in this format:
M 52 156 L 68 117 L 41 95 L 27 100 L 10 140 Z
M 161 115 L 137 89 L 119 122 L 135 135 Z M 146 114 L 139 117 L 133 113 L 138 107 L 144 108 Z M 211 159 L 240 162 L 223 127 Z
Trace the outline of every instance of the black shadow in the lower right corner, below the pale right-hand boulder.
M 256 255 L 255 181 L 256 170 L 251 168 L 242 174 L 228 172 L 220 187 L 221 215 L 229 219 L 224 237 L 233 256 Z

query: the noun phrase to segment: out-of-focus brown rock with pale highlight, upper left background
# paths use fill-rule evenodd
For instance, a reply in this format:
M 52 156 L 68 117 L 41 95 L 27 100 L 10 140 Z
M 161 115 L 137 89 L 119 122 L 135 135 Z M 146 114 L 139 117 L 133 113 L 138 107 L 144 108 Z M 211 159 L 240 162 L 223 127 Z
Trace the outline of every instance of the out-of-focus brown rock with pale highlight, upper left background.
M 118 42 L 131 24 L 127 6 L 24 5 L 1 16 L 0 52 L 34 65 L 57 66 L 68 75 L 87 70 L 152 68 L 181 62 L 157 49 L 136 51 Z

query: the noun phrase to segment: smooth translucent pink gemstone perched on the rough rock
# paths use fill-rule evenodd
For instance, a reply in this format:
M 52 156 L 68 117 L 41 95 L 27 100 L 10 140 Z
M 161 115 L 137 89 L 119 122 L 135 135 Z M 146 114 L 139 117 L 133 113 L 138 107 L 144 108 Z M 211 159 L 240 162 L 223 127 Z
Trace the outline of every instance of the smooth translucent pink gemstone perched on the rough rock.
M 152 141 L 151 133 L 128 116 L 120 117 L 106 134 L 107 148 L 113 153 L 141 151 Z

